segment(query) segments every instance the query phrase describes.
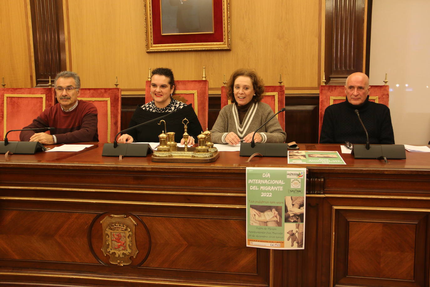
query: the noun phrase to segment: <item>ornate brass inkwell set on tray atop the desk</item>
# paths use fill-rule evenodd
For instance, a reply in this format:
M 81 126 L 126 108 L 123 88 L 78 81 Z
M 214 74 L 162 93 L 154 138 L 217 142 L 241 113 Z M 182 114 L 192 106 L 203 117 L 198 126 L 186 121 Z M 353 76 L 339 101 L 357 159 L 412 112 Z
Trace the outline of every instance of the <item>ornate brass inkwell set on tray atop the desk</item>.
M 164 133 L 164 131 L 167 130 L 166 121 L 160 120 L 158 124 L 161 125 L 162 123 L 164 123 L 164 130 L 163 133 L 158 136 L 160 145 L 152 154 L 152 161 L 206 163 L 215 161 L 219 157 L 218 149 L 214 147 L 214 143 L 211 140 L 212 133 L 209 130 L 197 136 L 197 147 L 188 147 L 187 141 L 190 135 L 187 133 L 187 124 L 189 121 L 187 118 L 184 118 L 184 120 L 182 120 L 184 124 L 184 134 L 182 135 L 184 147 L 178 147 L 178 143 L 175 142 L 175 133 Z

